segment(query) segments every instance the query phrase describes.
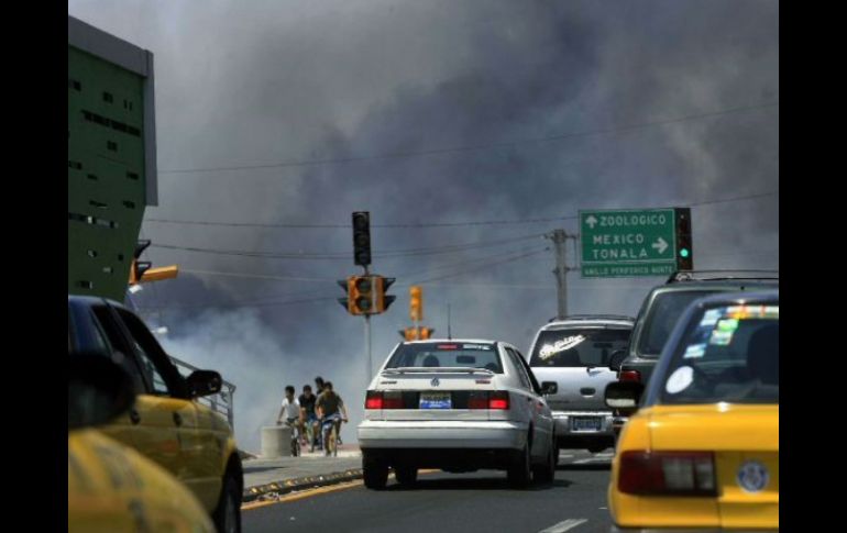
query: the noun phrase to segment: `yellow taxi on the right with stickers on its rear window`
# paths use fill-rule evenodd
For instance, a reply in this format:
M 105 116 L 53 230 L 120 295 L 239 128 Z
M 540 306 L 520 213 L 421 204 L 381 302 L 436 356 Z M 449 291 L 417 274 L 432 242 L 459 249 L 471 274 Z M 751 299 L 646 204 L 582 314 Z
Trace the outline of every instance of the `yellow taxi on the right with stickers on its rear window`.
M 605 400 L 638 407 L 612 464 L 612 531 L 779 530 L 779 290 L 695 301 L 647 389 L 610 384 Z

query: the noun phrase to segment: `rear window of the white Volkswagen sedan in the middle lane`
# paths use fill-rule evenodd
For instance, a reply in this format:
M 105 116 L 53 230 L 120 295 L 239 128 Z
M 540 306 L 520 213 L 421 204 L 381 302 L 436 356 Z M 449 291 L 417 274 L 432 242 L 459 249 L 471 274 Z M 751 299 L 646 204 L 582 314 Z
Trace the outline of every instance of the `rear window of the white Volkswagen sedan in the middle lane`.
M 415 343 L 402 344 L 385 368 L 487 368 L 503 374 L 497 348 L 491 343 Z

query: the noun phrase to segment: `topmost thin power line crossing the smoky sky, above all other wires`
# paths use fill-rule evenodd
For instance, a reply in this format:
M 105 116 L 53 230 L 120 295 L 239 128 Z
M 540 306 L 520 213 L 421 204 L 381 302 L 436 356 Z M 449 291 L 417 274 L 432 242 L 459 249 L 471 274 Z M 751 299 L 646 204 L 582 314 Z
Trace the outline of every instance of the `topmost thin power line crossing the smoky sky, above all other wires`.
M 200 174 L 200 173 L 218 173 L 218 171 L 232 171 L 232 170 L 257 170 L 257 169 L 267 169 L 267 168 L 304 167 L 304 166 L 316 166 L 316 165 L 339 165 L 339 164 L 358 163 L 358 162 L 366 162 L 366 160 L 400 159 L 400 158 L 422 157 L 422 156 L 452 154 L 452 153 L 461 153 L 461 152 L 476 152 L 476 151 L 488 149 L 488 148 L 507 148 L 507 147 L 520 146 L 524 144 L 547 143 L 547 142 L 564 141 L 564 140 L 574 138 L 574 137 L 623 133 L 623 132 L 628 132 L 631 130 L 638 130 L 644 127 L 674 124 L 679 122 L 686 122 L 690 120 L 708 119 L 713 116 L 722 116 L 722 115 L 732 114 L 732 113 L 743 113 L 743 112 L 756 111 L 760 109 L 768 109 L 768 108 L 774 108 L 774 107 L 779 107 L 779 100 L 773 102 L 760 103 L 756 106 L 743 106 L 737 108 L 729 108 L 729 109 L 724 109 L 721 111 L 714 111 L 708 113 L 690 114 L 684 116 L 678 116 L 674 119 L 647 121 L 647 122 L 640 122 L 640 123 L 634 123 L 634 124 L 625 124 L 620 126 L 587 130 L 583 132 L 562 133 L 558 135 L 549 135 L 549 136 L 536 137 L 536 138 L 525 138 L 525 140 L 509 141 L 509 142 L 503 142 L 503 143 L 486 143 L 486 144 L 476 144 L 476 145 L 451 146 L 451 147 L 432 148 L 432 149 L 425 149 L 425 151 L 418 151 L 418 152 L 397 152 L 394 154 L 374 154 L 374 155 L 364 155 L 364 156 L 356 156 L 356 157 L 289 160 L 289 162 L 273 163 L 268 165 L 242 165 L 242 166 L 209 167 L 209 168 L 182 168 L 182 169 L 174 169 L 174 170 L 160 170 L 158 174 L 161 175 Z

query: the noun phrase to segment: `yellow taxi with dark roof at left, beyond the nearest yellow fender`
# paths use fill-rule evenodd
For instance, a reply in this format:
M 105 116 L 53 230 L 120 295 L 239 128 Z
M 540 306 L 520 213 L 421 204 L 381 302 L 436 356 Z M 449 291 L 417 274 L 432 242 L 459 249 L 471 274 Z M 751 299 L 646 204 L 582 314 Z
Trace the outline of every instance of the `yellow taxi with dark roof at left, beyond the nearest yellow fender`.
M 241 531 L 243 473 L 232 427 L 197 401 L 221 390 L 220 374 L 183 377 L 134 312 L 99 297 L 68 295 L 68 351 L 105 354 L 133 380 L 134 407 L 99 430 L 173 474 L 219 531 Z

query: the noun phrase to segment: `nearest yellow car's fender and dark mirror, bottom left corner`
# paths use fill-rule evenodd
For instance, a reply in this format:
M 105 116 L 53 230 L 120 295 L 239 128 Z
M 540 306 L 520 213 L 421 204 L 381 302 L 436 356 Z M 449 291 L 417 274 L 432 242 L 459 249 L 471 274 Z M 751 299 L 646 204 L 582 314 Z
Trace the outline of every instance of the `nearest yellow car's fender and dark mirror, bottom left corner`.
M 173 475 L 91 427 L 130 409 L 130 377 L 102 355 L 75 355 L 68 376 L 68 532 L 215 533 Z

